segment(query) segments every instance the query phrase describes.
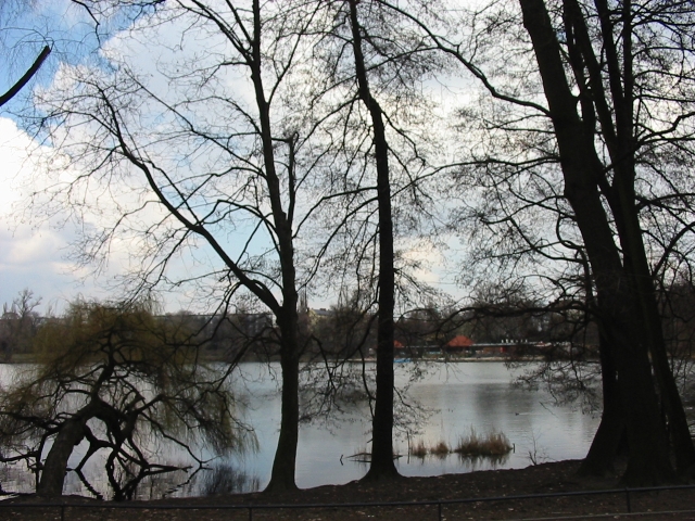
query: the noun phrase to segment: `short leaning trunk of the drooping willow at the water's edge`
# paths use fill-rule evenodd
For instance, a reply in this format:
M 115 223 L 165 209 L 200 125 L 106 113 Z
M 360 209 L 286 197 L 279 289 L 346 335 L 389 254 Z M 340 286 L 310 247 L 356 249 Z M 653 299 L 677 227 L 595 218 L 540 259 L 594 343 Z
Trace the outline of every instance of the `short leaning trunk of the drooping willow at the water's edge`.
M 77 445 L 85 435 L 83 427 L 84 422 L 79 417 L 70 419 L 63 423 L 46 457 L 41 479 L 36 488 L 38 496 L 59 497 L 63 494 L 67 460 L 71 454 L 73 454 L 75 445 Z

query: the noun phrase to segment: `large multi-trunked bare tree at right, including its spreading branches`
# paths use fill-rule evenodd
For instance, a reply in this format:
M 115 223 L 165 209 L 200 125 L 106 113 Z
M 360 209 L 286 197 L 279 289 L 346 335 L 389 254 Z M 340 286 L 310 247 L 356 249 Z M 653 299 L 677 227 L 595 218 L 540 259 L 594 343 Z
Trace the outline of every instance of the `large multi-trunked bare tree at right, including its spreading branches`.
M 496 153 L 476 152 L 481 169 L 496 171 L 518 202 L 515 213 L 500 213 L 497 223 L 514 229 L 506 239 L 520 238 L 519 250 L 548 259 L 567 258 L 573 251 L 577 266 L 587 267 L 589 284 L 579 287 L 599 326 L 604 378 L 618 376 L 617 385 L 605 390 L 618 392 L 624 415 L 614 423 L 627 427 L 624 480 L 669 480 L 655 382 L 679 470 L 694 461 L 655 289 L 660 270 L 681 251 L 675 244 L 691 240 L 693 191 L 685 171 L 692 163 L 693 74 L 683 27 L 693 13 L 683 2 L 519 4 L 520 12 L 495 4 L 473 13 L 470 20 L 478 25 L 467 35 L 468 46 L 419 26 L 480 81 L 500 109 L 485 122 L 501 137 Z M 561 191 L 547 180 L 553 171 L 561 174 Z M 543 236 L 533 240 L 522 218 L 534 209 L 556 212 L 555 243 Z M 666 237 L 646 231 L 645 223 L 658 213 L 657 221 L 665 225 L 659 231 L 670 230 Z M 577 239 L 565 240 L 572 228 Z M 555 246 L 565 253 L 554 255 Z M 610 410 L 616 409 L 605 412 Z M 615 444 L 598 453 L 605 468 Z

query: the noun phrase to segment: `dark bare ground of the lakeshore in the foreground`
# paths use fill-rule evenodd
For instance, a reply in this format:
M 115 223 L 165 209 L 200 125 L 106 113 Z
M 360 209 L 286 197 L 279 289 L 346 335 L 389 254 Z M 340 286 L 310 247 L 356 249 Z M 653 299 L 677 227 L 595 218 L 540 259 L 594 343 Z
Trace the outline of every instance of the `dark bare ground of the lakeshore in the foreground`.
M 112 521 L 208 521 L 208 520 L 549 520 L 549 519 L 679 519 L 695 520 L 695 488 L 671 492 L 631 493 L 632 514 L 627 514 L 628 498 L 621 494 L 571 496 L 563 498 L 505 499 L 495 501 L 444 504 L 432 506 L 341 506 L 348 503 L 438 501 L 464 498 L 552 494 L 570 491 L 616 488 L 616 476 L 586 479 L 577 475 L 578 461 L 560 461 L 522 470 L 497 470 L 448 474 L 435 478 L 403 478 L 379 484 L 349 483 L 320 486 L 292 494 L 239 494 L 162 501 L 136 501 L 114 505 L 91 499 L 64 498 L 65 507 L 46 506 L 36 498 L 15 498 L 0 503 L 0 519 L 12 520 L 112 520 Z M 20 507 L 17 503 L 31 507 Z M 223 506 L 261 505 L 339 506 L 302 509 L 224 509 Z M 139 508 L 94 508 L 97 506 L 137 506 Z M 157 509 L 166 507 L 166 509 Z M 215 508 L 207 508 L 215 507 Z

